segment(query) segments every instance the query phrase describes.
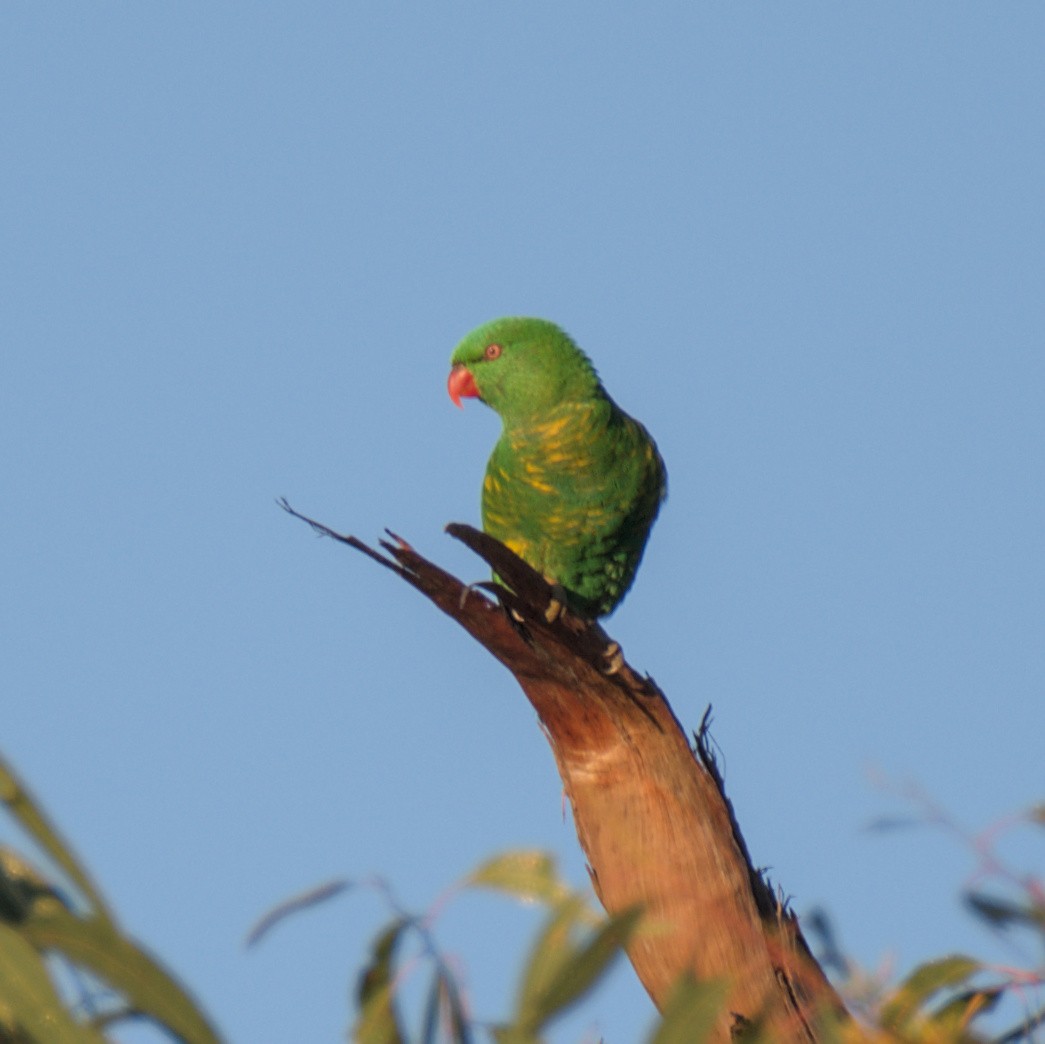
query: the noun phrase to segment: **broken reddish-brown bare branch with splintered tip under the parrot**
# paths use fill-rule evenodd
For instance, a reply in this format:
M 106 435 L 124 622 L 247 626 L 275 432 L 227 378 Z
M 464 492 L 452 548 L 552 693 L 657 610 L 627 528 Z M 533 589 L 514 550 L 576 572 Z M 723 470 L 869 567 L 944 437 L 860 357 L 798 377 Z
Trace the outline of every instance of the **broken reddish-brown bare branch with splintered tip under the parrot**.
M 334 533 L 452 617 L 515 676 L 544 728 L 602 905 L 642 904 L 628 948 L 658 1006 L 684 972 L 729 982 L 719 1039 L 761 1024 L 770 1039 L 816 1041 L 818 1013 L 844 1011 L 794 914 L 752 865 L 705 723 L 695 746 L 664 693 L 626 663 L 606 673 L 607 636 L 572 616 L 549 622 L 544 579 L 492 537 L 447 532 L 503 584 L 466 585 L 389 533 L 380 551 Z

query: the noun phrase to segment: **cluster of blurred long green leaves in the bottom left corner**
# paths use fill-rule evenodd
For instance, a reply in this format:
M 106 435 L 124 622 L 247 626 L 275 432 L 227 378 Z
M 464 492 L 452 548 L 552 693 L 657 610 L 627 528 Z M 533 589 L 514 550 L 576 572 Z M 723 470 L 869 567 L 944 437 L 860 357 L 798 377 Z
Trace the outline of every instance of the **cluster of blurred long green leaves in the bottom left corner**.
M 67 879 L 60 889 L 19 853 L 0 846 L 0 1040 L 102 1044 L 107 1026 L 133 1015 L 187 1044 L 217 1044 L 185 990 L 120 930 L 87 871 L 2 759 L 0 799 Z M 89 1017 L 74 1012 L 52 978 L 55 959 L 119 999 L 107 996 Z

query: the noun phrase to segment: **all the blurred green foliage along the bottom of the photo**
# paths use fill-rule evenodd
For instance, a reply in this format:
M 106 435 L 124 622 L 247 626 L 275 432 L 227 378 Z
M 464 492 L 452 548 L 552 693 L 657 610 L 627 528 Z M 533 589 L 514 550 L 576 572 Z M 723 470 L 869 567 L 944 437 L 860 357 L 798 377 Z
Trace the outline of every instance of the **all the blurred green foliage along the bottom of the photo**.
M 34 842 L 39 858 L 54 867 L 53 876 L 47 876 L 19 852 L 0 845 L 0 1041 L 106 1044 L 109 1027 L 134 1016 L 153 1020 L 187 1044 L 217 1044 L 216 1031 L 185 990 L 122 932 L 98 887 L 2 759 L 0 801 Z M 1045 826 L 1043 809 L 1036 806 L 1012 821 L 1040 828 Z M 982 838 L 974 838 L 973 848 L 983 860 L 977 880 L 984 887 L 965 896 L 967 908 L 996 933 L 1029 934 L 1045 954 L 1042 881 L 1007 869 Z M 349 1036 L 362 1044 L 472 1044 L 480 1036 L 497 1044 L 540 1044 L 557 1019 L 590 998 L 643 930 L 640 909 L 611 917 L 597 911 L 587 894 L 571 888 L 541 852 L 508 852 L 485 861 L 420 915 L 402 910 L 384 883 L 371 885 L 386 896 L 393 915 L 371 944 L 354 995 Z M 348 887 L 345 881 L 328 882 L 279 904 L 261 919 L 251 942 L 285 917 Z M 480 1022 L 469 1011 L 456 966 L 435 938 L 437 913 L 449 898 L 469 890 L 492 890 L 543 911 L 520 961 L 512 1011 L 496 1024 Z M 828 1017 L 819 1029 L 822 1044 L 984 1042 L 990 1038 L 980 1028 L 983 1016 L 1007 994 L 1045 983 L 1045 964 L 1002 970 L 956 954 L 929 960 L 899 985 L 886 988 L 840 954 L 830 925 L 818 930 L 832 962 L 842 969 L 840 989 L 855 1015 Z M 83 996 L 75 1004 L 53 975 L 60 966 L 77 977 Z M 423 1002 L 411 1005 L 403 987 L 418 969 L 427 976 L 426 989 Z M 683 976 L 648 1044 L 711 1040 L 719 1029 L 726 993 L 725 983 Z M 412 1013 L 415 1025 L 404 1013 Z M 1045 1013 L 1027 1014 L 995 1039 L 1032 1040 L 1043 1024 Z M 738 1039 L 770 1044 L 750 1023 Z

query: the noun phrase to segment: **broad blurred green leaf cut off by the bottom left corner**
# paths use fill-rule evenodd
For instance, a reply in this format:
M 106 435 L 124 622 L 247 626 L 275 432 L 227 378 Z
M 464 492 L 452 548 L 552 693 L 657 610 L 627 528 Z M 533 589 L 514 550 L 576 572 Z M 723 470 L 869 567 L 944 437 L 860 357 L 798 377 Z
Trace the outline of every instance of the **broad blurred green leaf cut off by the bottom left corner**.
M 15 929 L 0 925 L 0 1040 L 23 1039 L 39 1044 L 106 1042 L 69 1015 L 32 946 Z

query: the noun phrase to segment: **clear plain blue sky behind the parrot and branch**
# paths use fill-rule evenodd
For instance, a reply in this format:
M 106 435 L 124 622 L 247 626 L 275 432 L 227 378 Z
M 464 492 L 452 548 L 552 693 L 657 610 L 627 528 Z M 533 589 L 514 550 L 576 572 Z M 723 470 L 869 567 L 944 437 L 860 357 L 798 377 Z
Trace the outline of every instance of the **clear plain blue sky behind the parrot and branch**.
M 513 679 L 274 503 L 481 578 L 442 527 L 497 423 L 445 377 L 505 314 L 657 439 L 608 629 L 683 722 L 714 703 L 756 862 L 867 966 L 1019 962 L 958 840 L 867 825 L 908 785 L 971 830 L 1043 796 L 1043 33 L 1035 3 L 3 6 L 0 742 L 230 1040 L 344 1029 L 382 907 L 245 952 L 295 891 L 380 873 L 421 908 L 510 846 L 584 881 Z M 482 1017 L 537 923 L 444 913 Z M 556 1039 L 651 1015 L 622 969 Z

